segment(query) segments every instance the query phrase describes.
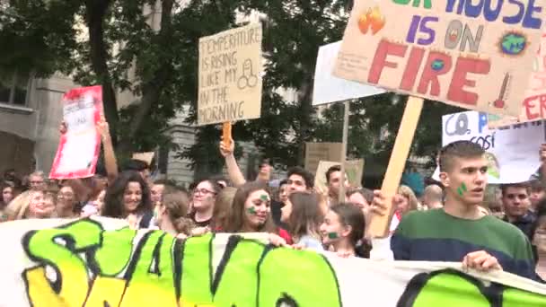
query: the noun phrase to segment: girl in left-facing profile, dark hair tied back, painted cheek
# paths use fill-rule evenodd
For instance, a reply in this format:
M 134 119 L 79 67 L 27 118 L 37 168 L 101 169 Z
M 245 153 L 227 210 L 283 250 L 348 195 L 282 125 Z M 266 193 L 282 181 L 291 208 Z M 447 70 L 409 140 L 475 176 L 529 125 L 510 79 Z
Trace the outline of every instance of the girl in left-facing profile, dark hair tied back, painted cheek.
M 330 206 L 320 227 L 322 243 L 341 257 L 357 255 L 357 243 L 364 237 L 365 218 L 357 206 Z

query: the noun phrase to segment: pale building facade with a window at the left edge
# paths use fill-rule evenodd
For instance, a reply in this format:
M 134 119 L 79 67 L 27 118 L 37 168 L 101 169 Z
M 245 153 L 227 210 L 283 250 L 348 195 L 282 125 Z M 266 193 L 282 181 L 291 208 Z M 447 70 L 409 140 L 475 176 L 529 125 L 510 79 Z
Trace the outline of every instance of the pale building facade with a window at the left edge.
M 57 152 L 61 99 L 71 79 L 10 75 L 0 78 L 0 171 L 48 172 Z

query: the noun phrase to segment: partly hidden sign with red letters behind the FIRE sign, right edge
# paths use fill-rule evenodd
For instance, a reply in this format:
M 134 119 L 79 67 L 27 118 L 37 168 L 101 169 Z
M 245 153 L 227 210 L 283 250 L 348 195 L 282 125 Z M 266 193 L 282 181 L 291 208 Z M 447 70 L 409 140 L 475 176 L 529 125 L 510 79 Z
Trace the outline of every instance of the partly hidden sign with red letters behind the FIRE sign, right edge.
M 504 127 L 542 118 L 546 118 L 546 34 L 542 34 L 541 46 L 534 57 L 533 71 L 519 117 L 501 117 L 489 114 L 489 128 Z

